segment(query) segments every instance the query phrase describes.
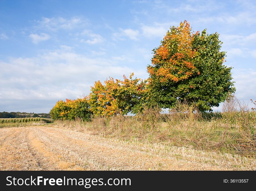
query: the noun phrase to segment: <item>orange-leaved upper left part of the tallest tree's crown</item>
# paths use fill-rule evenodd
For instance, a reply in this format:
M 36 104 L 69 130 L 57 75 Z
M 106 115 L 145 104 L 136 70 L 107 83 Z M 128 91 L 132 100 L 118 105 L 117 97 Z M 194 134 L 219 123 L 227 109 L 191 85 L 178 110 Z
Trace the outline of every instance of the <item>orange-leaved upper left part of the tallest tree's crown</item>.
M 197 56 L 192 47 L 193 38 L 191 27 L 186 20 L 168 31 L 159 48 L 155 49 L 152 66 L 147 67 L 150 76 L 155 76 L 161 82 L 178 82 L 192 75 L 199 75 L 200 72 L 193 64 Z

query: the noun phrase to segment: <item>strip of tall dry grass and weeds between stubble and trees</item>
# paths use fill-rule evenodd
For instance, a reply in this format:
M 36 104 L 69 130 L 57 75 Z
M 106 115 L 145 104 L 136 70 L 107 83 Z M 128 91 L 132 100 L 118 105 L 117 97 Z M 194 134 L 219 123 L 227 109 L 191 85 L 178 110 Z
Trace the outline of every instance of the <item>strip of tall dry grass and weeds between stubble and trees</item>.
M 94 117 L 91 122 L 56 121 L 54 124 L 119 140 L 256 156 L 256 112 L 195 112 L 191 117 L 186 105 L 181 104 L 178 108 L 179 111 L 164 115 L 158 110 L 145 108 L 143 114 L 136 116 Z

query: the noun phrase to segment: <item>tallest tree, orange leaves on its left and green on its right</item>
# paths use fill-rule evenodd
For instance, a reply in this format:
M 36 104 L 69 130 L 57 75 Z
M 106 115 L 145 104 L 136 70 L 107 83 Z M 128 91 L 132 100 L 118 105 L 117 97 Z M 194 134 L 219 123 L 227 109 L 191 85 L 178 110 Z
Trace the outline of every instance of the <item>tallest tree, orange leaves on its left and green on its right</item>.
M 171 108 L 177 100 L 188 101 L 201 111 L 219 106 L 235 91 L 231 67 L 223 65 L 225 52 L 218 33 L 193 33 L 187 21 L 171 27 L 147 71 L 152 103 Z

